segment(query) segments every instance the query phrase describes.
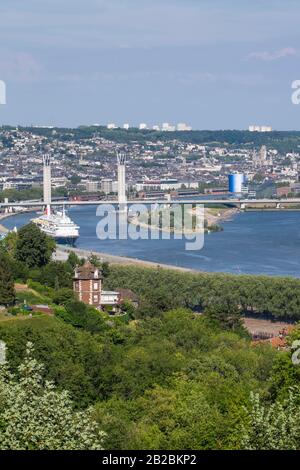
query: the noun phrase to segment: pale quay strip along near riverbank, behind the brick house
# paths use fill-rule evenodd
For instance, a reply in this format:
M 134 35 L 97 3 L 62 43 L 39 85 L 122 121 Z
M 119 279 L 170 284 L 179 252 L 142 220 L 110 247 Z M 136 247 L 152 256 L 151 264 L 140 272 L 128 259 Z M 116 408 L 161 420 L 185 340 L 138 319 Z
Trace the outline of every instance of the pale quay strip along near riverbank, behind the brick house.
M 171 269 L 175 271 L 181 272 L 198 272 L 199 270 L 190 269 L 190 268 L 183 268 L 181 266 L 174 266 L 172 264 L 162 264 L 162 263 L 155 263 L 153 261 L 144 261 L 138 258 L 128 258 L 126 256 L 117 256 L 117 255 L 110 255 L 108 253 L 101 253 L 98 251 L 92 250 L 82 250 L 80 248 L 74 248 L 70 246 L 63 246 L 57 245 L 56 251 L 54 253 L 54 259 L 56 261 L 66 261 L 68 258 L 69 253 L 73 251 L 77 254 L 80 258 L 88 258 L 91 255 L 97 256 L 102 263 L 109 263 L 109 264 L 119 264 L 123 266 L 140 266 L 144 268 L 163 268 L 163 269 Z

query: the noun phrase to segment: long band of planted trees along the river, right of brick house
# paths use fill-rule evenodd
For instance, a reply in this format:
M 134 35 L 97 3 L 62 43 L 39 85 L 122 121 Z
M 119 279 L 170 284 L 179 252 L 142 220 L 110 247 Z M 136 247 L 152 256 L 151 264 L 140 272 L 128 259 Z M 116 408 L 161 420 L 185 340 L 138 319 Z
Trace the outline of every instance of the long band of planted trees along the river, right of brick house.
M 230 299 L 241 314 L 300 319 L 300 280 L 295 278 L 194 274 L 113 265 L 105 285 L 110 289 L 122 286 L 135 292 L 141 300 L 137 316 L 157 316 L 177 307 L 203 311 L 216 299 L 221 302 Z

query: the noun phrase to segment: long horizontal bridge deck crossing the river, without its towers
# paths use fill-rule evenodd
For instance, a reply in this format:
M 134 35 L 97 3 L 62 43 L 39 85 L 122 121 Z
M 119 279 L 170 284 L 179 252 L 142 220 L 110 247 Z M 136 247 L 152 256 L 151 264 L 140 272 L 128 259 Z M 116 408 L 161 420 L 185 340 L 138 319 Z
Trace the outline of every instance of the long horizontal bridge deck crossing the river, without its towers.
M 216 204 L 223 204 L 228 206 L 236 206 L 240 209 L 246 209 L 247 207 L 274 207 L 280 209 L 281 207 L 285 206 L 300 206 L 300 198 L 290 198 L 290 199 L 238 199 L 238 198 L 220 198 L 220 199 L 133 199 L 128 200 L 128 205 L 134 204 L 205 204 L 206 206 L 209 205 L 216 205 Z M 51 207 L 55 206 L 98 206 L 100 204 L 111 204 L 116 205 L 118 204 L 117 199 L 111 200 L 99 200 L 99 201 L 70 201 L 70 200 L 57 200 L 52 201 L 49 205 Z M 46 204 L 44 201 L 21 201 L 21 202 L 3 202 L 0 203 L 1 208 L 42 208 Z

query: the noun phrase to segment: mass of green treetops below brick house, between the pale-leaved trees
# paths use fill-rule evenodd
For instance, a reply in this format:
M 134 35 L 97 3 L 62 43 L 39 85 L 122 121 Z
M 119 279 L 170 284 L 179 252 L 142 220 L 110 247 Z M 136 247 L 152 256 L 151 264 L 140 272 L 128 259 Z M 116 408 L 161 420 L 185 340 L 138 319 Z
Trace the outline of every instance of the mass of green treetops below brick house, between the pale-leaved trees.
M 79 323 L 82 304 L 69 304 L 64 318 L 74 322 L 74 311 Z M 103 328 L 93 335 L 42 317 L 0 322 L 0 338 L 13 369 L 32 341 L 47 378 L 77 406 L 96 404 L 108 449 L 239 447 L 243 405 L 251 390 L 266 393 L 278 353 L 188 310 L 128 325 L 99 315 Z

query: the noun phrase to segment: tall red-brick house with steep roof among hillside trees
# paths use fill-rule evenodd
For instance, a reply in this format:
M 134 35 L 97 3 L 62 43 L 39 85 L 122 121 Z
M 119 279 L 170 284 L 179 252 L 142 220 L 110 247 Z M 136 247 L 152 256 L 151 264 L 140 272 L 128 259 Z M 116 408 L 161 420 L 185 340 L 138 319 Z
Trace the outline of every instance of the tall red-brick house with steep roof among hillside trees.
M 102 273 L 89 261 L 83 266 L 76 266 L 73 289 L 78 298 L 85 304 L 98 307 L 101 303 Z

